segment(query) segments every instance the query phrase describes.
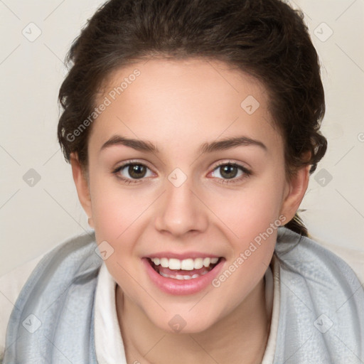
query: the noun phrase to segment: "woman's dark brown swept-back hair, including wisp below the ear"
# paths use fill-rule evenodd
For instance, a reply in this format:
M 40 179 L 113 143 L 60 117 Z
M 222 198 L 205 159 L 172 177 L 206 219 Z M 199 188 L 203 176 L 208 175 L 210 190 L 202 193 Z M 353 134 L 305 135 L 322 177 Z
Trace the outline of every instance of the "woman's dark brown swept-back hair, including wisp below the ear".
M 76 152 L 87 170 L 91 127 L 76 138 L 73 132 L 94 111 L 102 82 L 123 65 L 152 57 L 220 60 L 255 76 L 269 92 L 284 138 L 287 176 L 300 166 L 315 171 L 327 147 L 319 132 L 325 113 L 319 57 L 303 14 L 279 0 L 107 1 L 68 53 L 58 124 L 67 161 Z M 297 214 L 286 226 L 307 235 Z

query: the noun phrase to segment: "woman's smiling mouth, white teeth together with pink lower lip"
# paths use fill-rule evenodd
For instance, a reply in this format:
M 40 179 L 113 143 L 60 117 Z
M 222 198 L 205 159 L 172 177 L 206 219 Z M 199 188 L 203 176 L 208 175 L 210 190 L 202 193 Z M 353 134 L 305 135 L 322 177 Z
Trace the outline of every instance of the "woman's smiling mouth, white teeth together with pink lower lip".
M 156 287 L 168 294 L 195 294 L 211 285 L 225 262 L 224 257 L 145 257 L 146 273 Z

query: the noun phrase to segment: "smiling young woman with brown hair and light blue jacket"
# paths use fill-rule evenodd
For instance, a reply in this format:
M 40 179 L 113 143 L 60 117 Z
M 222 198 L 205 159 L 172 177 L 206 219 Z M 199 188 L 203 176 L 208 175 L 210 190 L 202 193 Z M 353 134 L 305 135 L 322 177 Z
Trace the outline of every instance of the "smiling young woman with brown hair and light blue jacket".
M 326 151 L 319 60 L 279 0 L 111 0 L 58 139 L 95 235 L 48 253 L 4 363 L 360 363 L 364 291 L 296 215 Z

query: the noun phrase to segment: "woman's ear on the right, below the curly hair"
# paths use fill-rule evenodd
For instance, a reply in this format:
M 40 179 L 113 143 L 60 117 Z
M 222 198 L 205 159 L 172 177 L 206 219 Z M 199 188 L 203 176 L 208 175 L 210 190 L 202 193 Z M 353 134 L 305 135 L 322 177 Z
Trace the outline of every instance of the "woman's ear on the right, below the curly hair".
M 281 213 L 287 218 L 287 221 L 294 218 L 294 215 L 304 198 L 307 186 L 309 186 L 310 167 L 311 166 L 304 166 L 299 168 L 296 173 L 291 176 L 289 181 L 287 181 L 281 208 Z

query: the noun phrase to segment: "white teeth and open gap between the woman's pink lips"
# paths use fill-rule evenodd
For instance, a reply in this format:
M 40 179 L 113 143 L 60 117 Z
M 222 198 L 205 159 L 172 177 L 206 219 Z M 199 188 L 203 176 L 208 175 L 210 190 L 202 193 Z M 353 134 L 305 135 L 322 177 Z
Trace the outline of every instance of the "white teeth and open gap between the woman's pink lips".
M 204 257 L 196 259 L 147 258 L 151 267 L 162 277 L 180 281 L 196 279 L 213 270 L 223 257 Z

